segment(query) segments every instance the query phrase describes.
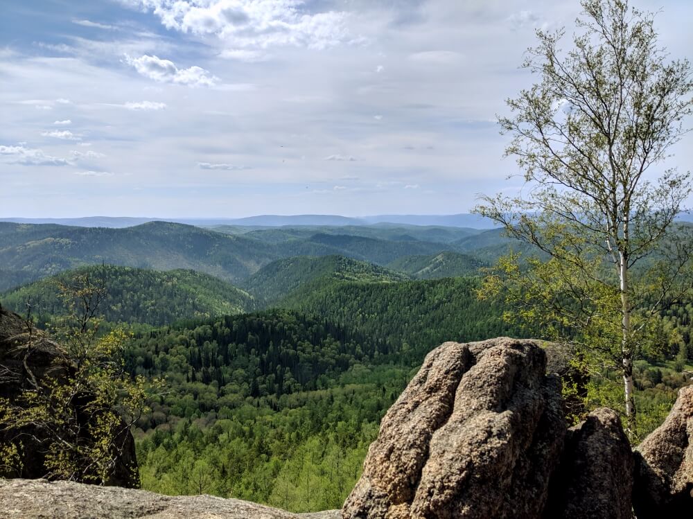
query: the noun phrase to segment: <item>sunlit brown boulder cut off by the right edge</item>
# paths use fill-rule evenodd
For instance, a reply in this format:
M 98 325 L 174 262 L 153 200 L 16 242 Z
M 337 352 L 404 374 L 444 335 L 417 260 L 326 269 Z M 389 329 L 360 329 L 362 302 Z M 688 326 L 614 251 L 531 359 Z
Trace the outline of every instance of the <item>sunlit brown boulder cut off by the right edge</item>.
M 635 449 L 638 518 L 693 517 L 693 386 L 678 392 L 659 428 Z

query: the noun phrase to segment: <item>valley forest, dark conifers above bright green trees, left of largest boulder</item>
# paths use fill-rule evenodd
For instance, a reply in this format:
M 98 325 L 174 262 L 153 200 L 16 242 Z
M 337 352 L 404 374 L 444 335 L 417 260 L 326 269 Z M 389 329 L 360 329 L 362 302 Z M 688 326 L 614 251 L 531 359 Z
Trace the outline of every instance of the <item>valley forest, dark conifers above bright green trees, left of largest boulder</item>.
M 143 487 L 295 511 L 339 507 L 410 376 L 378 366 L 378 346 L 287 310 L 137 337 L 128 367 L 169 385 L 137 421 Z

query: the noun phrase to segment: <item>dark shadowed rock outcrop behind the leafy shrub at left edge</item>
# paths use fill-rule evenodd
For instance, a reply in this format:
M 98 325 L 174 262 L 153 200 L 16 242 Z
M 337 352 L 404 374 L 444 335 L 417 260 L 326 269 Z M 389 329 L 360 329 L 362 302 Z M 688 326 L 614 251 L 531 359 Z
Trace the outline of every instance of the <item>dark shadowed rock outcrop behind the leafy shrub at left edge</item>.
M 0 308 L 0 398 L 21 405 L 24 392 L 44 388 L 46 380 L 66 380 L 74 371 L 64 349 L 44 333 L 29 326 L 25 319 Z M 87 403 L 89 392 L 80 394 L 82 403 Z M 81 411 L 79 399 L 75 403 L 76 416 L 80 425 L 80 439 L 87 443 L 89 423 L 98 416 Z M 21 469 L 8 469 L 0 464 L 0 477 L 44 477 L 46 468 L 46 432 L 42 428 L 28 425 L 20 430 L 1 430 L 0 445 L 21 441 Z M 128 488 L 139 486 L 137 457 L 134 439 L 125 423 L 121 424 L 114 439 L 117 449 L 116 463 L 109 474 L 108 484 Z

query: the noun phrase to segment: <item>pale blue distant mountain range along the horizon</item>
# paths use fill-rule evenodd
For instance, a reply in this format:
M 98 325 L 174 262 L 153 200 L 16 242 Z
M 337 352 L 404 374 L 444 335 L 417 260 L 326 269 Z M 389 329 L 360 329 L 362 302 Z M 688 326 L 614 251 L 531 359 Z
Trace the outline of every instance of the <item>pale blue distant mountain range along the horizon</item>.
M 133 218 L 112 216 L 85 216 L 83 218 L 0 218 L 0 222 L 58 224 L 75 227 L 111 227 L 122 229 L 147 222 L 166 221 L 212 227 L 216 225 L 239 225 L 243 227 L 283 227 L 286 225 L 436 225 L 443 227 L 470 227 L 472 229 L 492 229 L 493 222 L 488 218 L 468 213 L 454 215 L 374 215 L 351 218 L 340 215 L 257 215 L 247 218 Z

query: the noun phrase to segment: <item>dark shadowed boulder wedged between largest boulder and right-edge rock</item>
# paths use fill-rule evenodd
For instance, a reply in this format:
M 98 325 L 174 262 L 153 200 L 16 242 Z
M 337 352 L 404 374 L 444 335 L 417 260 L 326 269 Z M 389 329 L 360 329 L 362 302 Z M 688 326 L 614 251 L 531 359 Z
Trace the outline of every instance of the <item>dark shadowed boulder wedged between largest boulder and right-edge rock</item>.
M 545 519 L 631 519 L 633 453 L 617 412 L 601 408 L 568 430 Z

